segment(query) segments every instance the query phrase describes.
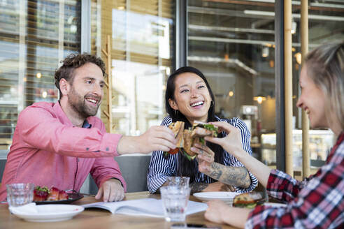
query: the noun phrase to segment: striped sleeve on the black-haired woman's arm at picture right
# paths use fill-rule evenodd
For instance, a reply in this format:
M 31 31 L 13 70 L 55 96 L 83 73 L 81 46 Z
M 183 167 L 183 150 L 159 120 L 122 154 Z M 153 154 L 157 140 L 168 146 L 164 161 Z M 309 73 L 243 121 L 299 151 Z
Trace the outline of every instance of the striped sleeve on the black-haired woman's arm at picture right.
M 245 150 L 245 152 L 247 152 L 249 155 L 252 155 L 252 149 L 251 149 L 251 133 L 248 130 L 248 126 L 246 126 L 245 122 L 242 121 L 241 119 L 238 118 L 233 118 L 233 119 L 220 119 L 220 121 L 227 121 L 229 124 L 231 124 L 232 126 L 238 128 L 241 132 L 241 144 L 243 145 L 243 149 Z M 225 154 L 225 162 L 229 161 L 228 164 L 225 165 L 229 165 L 229 166 L 233 166 L 233 167 L 244 167 L 244 165 L 238 161 L 233 155 L 227 153 Z M 240 192 L 240 193 L 246 193 L 246 192 L 250 192 L 253 191 L 253 189 L 255 189 L 255 187 L 258 184 L 258 180 L 257 178 L 252 175 L 251 172 L 248 172 L 248 174 L 250 175 L 251 178 L 251 184 L 248 188 L 242 188 L 242 187 L 238 187 L 236 186 L 236 191 Z

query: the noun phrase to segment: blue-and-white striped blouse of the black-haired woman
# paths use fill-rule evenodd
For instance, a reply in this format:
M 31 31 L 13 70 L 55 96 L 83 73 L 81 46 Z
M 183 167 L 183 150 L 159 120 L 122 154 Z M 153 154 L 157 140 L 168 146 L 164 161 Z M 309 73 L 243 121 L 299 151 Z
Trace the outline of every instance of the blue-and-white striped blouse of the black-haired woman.
M 250 147 L 250 131 L 248 130 L 248 127 L 246 126 L 245 122 L 241 121 L 241 119 L 238 118 L 232 118 L 232 119 L 220 119 L 219 117 L 216 117 L 218 121 L 227 121 L 232 126 L 235 126 L 236 128 L 240 129 L 241 131 L 241 140 L 243 144 L 243 149 L 245 152 L 248 152 L 248 154 L 252 154 L 252 150 Z M 171 124 L 172 119 L 171 117 L 165 117 L 162 121 L 162 126 L 169 126 Z M 225 133 L 224 133 L 225 135 Z M 225 152 L 225 151 L 224 151 Z M 166 182 L 167 177 L 175 176 L 177 173 L 178 168 L 178 156 L 179 154 L 171 154 L 169 155 L 169 158 L 165 159 L 163 158 L 163 152 L 162 151 L 155 151 L 152 153 L 152 157 L 150 158 L 150 165 L 148 168 L 148 174 L 147 174 L 147 186 L 150 193 L 155 193 L 157 189 L 162 186 Z M 243 167 L 243 164 L 236 160 L 234 156 L 231 154 L 228 154 L 225 152 L 224 154 L 224 165 L 227 166 L 233 166 L 233 167 Z M 247 188 L 241 188 L 241 187 L 235 187 L 237 192 L 249 192 L 255 189 L 257 186 L 257 178 L 253 176 L 250 172 L 251 177 L 251 185 Z M 195 182 L 199 183 L 213 183 L 213 179 L 211 177 L 208 177 L 207 175 L 199 172 L 197 169 L 195 171 Z

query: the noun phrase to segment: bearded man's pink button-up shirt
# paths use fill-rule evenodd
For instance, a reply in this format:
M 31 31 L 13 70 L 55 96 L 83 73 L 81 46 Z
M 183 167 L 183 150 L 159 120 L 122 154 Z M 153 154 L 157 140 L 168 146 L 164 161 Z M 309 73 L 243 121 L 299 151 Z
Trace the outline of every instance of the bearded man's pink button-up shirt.
M 6 184 L 34 183 L 79 191 L 90 173 L 97 186 L 110 178 L 126 183 L 117 162 L 117 144 L 122 135 L 106 133 L 103 122 L 88 117 L 92 128 L 73 126 L 59 102 L 34 103 L 17 119 L 13 145 L 8 153 L 0 187 L 6 199 Z

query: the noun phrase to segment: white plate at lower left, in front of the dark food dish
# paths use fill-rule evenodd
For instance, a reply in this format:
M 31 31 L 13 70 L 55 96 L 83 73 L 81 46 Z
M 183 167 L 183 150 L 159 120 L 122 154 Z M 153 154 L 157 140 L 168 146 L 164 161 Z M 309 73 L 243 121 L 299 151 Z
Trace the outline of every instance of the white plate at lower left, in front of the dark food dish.
M 55 222 L 71 219 L 84 207 L 78 205 L 36 205 L 31 203 L 20 207 L 9 207 L 10 212 L 26 221 Z

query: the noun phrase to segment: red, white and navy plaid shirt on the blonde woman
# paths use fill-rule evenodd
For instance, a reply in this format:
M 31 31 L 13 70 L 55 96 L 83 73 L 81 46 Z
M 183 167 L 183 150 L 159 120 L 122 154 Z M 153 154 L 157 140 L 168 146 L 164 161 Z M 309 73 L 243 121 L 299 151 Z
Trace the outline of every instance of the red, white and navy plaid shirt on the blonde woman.
M 325 165 L 302 182 L 272 170 L 268 195 L 286 207 L 257 206 L 245 228 L 344 228 L 344 132 Z

